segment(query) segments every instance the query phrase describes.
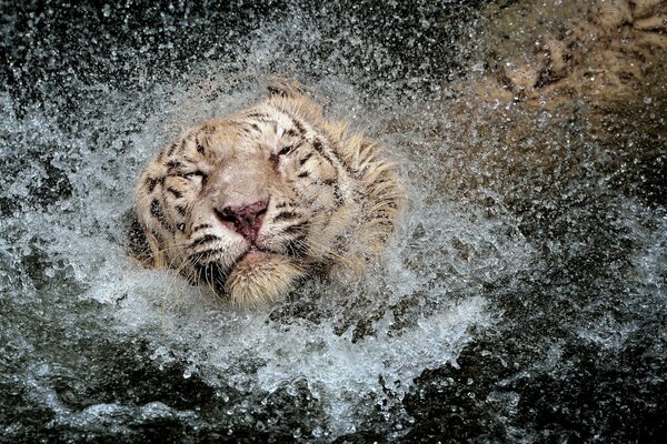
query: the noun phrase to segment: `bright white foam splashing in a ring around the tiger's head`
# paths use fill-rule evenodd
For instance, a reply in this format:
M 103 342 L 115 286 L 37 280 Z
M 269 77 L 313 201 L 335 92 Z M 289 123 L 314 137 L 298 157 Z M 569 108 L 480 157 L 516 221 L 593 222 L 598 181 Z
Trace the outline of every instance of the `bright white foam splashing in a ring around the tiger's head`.
M 220 83 L 213 80 L 209 88 L 225 90 L 227 79 L 221 79 Z M 334 89 L 332 93 L 340 90 L 339 98 L 359 95 L 340 79 L 332 81 L 329 89 Z M 178 134 L 180 127 L 242 108 L 257 95 L 255 82 L 249 82 L 241 92 L 229 93 L 221 108 L 219 102 L 191 95 L 188 85 L 160 85 L 157 91 L 155 110 L 160 112 L 149 113 L 141 131 L 125 140 L 126 154 L 120 157 L 116 150 L 122 143 L 113 134 L 137 117 L 132 110 L 123 114 L 118 109 L 128 100 L 118 91 L 107 91 L 115 99 L 109 101 L 104 114 L 115 115 L 113 124 L 104 124 L 103 118 L 88 121 L 90 131 L 82 131 L 76 139 L 63 139 L 53 131 L 53 115 L 36 114 L 27 123 L 10 124 L 12 131 L 31 132 L 36 139 L 49 139 L 72 149 L 67 157 L 57 155 L 57 165 L 67 171 L 72 183 L 71 199 L 47 210 L 26 211 L 3 224 L 21 233 L 14 241 L 28 250 L 29 240 L 39 236 L 44 253 L 60 261 L 51 266 L 60 268 L 86 289 L 78 295 L 80 301 L 94 300 L 113 307 L 113 321 L 100 329 L 120 337 L 147 340 L 152 351 L 146 359 L 157 365 L 185 362 L 183 377 L 198 374 L 213 386 L 223 383 L 243 392 L 271 393 L 305 380 L 328 415 L 330 425 L 321 433 L 336 436 L 359 426 L 364 420 L 359 412 L 370 408 L 365 406 L 368 394 L 372 394 L 374 403 L 386 397 L 380 380 L 395 393 L 385 406 L 390 408 L 425 370 L 455 363 L 462 346 L 472 339 L 472 326 L 492 324 L 485 297 L 475 295 L 476 282 L 511 273 L 526 262 L 530 249 L 518 238 L 498 234 L 499 224 L 506 228 L 502 221 L 467 214 L 454 203 L 426 204 L 424 193 L 429 192 L 429 184 L 408 186 L 409 209 L 384 264 L 359 283 L 316 283 L 308 287 L 311 294 L 301 295 L 321 304 L 318 322 L 268 321 L 272 307 L 235 312 L 217 304 L 209 294 L 200 294 L 172 272 L 139 268 L 118 242 L 122 239 L 119 215 L 131 205 L 133 180 L 142 162 L 168 138 Z M 336 107 L 340 114 L 346 108 L 354 108 L 361 121 L 370 121 L 374 113 L 356 100 L 338 102 Z M 378 131 L 381 124 L 376 121 Z M 102 128 L 100 135 L 97 131 Z M 91 144 L 93 133 L 102 147 Z M 394 150 L 406 148 L 399 138 L 386 137 L 386 142 Z M 71 159 L 77 159 L 76 168 Z M 17 189 L 12 195 L 20 193 Z M 449 245 L 455 239 L 469 246 L 468 256 L 452 254 Z M 476 255 L 478 249 L 480 254 Z M 53 275 L 56 270 L 49 273 Z M 460 299 L 458 292 L 464 287 L 468 289 L 467 296 Z M 355 301 L 366 303 L 355 307 Z M 416 310 L 409 315 L 408 326 L 398 329 L 391 307 L 400 303 L 429 307 L 421 314 Z M 73 310 L 77 306 L 74 302 Z M 86 316 L 86 312 L 80 315 Z M 371 315 L 379 316 L 371 322 L 375 333 L 352 341 L 356 323 L 351 322 L 340 334 L 346 319 Z M 241 365 L 249 357 L 255 364 Z M 112 414 L 116 407 L 96 408 L 88 408 L 83 416 Z

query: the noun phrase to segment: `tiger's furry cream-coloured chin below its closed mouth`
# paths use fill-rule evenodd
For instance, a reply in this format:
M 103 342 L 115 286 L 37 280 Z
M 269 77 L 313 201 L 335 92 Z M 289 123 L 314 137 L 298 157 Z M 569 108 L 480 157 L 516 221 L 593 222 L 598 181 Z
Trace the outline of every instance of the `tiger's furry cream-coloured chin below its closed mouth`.
M 302 265 L 292 258 L 253 251 L 231 270 L 225 290 L 232 305 L 257 307 L 283 299 L 305 275 Z

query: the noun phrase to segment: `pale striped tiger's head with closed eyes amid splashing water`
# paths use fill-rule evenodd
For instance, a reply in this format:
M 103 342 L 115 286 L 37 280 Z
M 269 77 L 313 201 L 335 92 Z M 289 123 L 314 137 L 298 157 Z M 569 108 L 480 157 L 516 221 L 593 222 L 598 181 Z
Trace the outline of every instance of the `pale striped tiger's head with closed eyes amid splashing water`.
M 285 299 L 305 279 L 364 272 L 385 250 L 405 193 L 378 141 L 328 121 L 302 89 L 205 121 L 148 162 L 130 254 L 236 307 Z

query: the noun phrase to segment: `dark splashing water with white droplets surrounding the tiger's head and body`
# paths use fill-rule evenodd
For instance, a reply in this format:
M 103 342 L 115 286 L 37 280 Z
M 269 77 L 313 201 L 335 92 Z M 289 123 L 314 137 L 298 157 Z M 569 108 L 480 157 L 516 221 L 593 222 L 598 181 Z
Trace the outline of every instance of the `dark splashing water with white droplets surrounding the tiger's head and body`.
M 623 101 L 478 100 L 512 4 L 3 3 L 0 441 L 659 441 L 665 52 Z M 409 203 L 365 279 L 240 312 L 120 243 L 147 159 L 272 73 Z

